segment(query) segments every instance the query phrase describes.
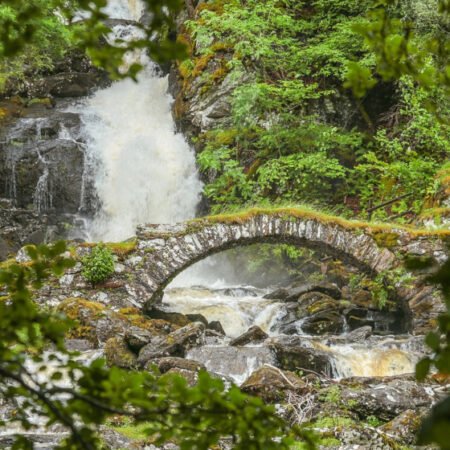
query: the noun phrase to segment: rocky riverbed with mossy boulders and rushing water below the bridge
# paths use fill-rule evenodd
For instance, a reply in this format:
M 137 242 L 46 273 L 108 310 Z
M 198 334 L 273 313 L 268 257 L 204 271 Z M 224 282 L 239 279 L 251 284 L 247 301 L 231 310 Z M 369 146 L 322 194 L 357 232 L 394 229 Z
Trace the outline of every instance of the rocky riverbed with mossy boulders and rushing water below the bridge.
M 380 311 L 345 278 L 265 289 L 169 286 L 143 313 L 130 303 L 126 282 L 118 283 L 130 278 L 123 263 L 133 257 L 120 250 L 116 280 L 92 287 L 75 268 L 37 296 L 78 322 L 66 345 L 86 361 L 105 357 L 111 366 L 180 375 L 190 386 L 206 370 L 275 404 L 292 424 L 313 428 L 323 448 L 411 448 L 421 419 L 448 392 L 448 379 L 415 380 L 427 348 L 423 336 L 402 331 L 401 310 Z M 2 409 L 6 420 L 13 409 Z M 37 448 L 63 436 L 33 433 Z M 101 434 L 110 448 L 153 448 L 121 417 Z M 10 439 L 3 431 L 0 443 Z

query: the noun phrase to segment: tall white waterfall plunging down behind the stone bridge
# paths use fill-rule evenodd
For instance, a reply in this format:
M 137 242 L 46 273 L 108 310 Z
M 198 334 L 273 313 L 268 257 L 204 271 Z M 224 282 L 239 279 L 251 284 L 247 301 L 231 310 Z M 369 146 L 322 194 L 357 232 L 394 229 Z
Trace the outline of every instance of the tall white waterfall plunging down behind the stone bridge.
M 110 1 L 114 18 L 139 20 L 139 1 Z M 114 39 L 133 39 L 139 30 L 114 27 Z M 86 139 L 86 164 L 94 180 L 100 210 L 88 225 L 92 240 L 119 241 L 140 223 L 174 223 L 193 218 L 202 184 L 195 155 L 177 133 L 168 77 L 143 52 L 126 55 L 124 65 L 139 62 L 139 82 L 126 79 L 98 91 L 80 105 Z

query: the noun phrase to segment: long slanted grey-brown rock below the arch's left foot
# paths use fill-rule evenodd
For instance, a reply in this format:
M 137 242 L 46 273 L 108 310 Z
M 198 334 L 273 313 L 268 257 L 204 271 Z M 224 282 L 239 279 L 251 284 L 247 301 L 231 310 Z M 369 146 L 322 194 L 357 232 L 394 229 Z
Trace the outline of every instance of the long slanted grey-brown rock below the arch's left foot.
M 204 331 L 205 326 L 201 322 L 194 322 L 167 336 L 155 337 L 139 352 L 139 364 L 143 366 L 149 360 L 163 356 L 183 357 L 189 348 L 203 343 Z

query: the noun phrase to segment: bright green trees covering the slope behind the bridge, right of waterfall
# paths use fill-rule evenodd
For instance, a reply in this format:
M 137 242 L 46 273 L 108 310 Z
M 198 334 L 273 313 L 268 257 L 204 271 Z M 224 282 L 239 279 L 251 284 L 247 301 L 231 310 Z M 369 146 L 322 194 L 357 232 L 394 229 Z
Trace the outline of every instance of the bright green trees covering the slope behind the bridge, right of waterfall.
M 389 11 L 406 17 L 411 12 L 400 3 Z M 419 31 L 428 36 L 434 16 L 419 9 Z M 408 75 L 396 86 L 396 104 L 373 122 L 365 110 L 370 105 L 359 97 L 376 83 L 377 54 L 355 32 L 372 13 L 371 0 L 211 1 L 188 22 L 195 47 L 193 59 L 181 64 L 187 78 L 204 80 L 206 74 L 194 75 L 194 60 L 212 57 L 221 46 L 232 53 L 227 67 L 237 81 L 231 125 L 197 141 L 199 167 L 213 180 L 205 186 L 213 212 L 264 199 L 323 206 L 348 197 L 357 199 L 352 206 L 359 212 L 405 193 L 409 197 L 375 216 L 422 210 L 448 145 L 448 130 L 427 108 L 435 103 L 448 114 L 445 92 L 417 89 Z M 358 91 L 353 106 L 342 88 L 352 76 L 348 86 Z M 327 110 L 333 116 L 333 108 L 342 107 L 359 111 L 368 129 L 333 124 Z

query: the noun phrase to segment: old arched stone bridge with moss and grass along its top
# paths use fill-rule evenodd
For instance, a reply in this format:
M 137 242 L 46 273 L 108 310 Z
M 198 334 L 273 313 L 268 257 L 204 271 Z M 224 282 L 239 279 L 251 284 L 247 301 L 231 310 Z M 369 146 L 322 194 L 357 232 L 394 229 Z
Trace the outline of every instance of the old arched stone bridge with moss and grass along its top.
M 160 301 L 164 288 L 180 272 L 207 256 L 253 243 L 289 243 L 318 249 L 375 276 L 403 265 L 403 256 L 446 259 L 449 232 L 346 221 L 309 211 L 250 210 L 234 216 L 211 216 L 177 225 L 143 225 L 137 230 L 134 260 L 138 296 L 147 305 Z M 423 286 L 397 286 L 396 297 L 411 311 L 416 332 L 429 328 L 442 310 L 436 292 Z

